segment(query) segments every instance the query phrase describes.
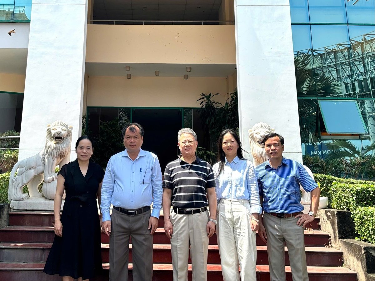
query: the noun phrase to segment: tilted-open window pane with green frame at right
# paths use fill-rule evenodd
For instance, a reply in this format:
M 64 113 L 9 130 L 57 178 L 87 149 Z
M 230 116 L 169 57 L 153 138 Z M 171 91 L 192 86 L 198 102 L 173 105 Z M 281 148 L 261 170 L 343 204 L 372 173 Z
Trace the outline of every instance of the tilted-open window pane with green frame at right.
M 368 133 L 355 100 L 319 100 L 318 102 L 327 133 Z

